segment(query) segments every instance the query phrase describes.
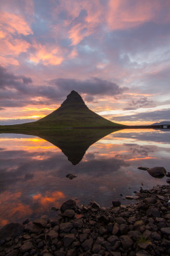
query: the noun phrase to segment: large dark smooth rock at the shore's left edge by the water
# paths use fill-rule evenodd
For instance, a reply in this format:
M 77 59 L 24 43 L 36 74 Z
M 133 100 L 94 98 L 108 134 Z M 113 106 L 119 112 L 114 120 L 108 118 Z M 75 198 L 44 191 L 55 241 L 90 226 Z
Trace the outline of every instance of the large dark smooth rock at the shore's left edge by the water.
M 9 238 L 11 236 L 20 236 L 22 235 L 23 231 L 23 225 L 20 225 L 18 223 L 7 224 L 0 230 L 0 240 Z

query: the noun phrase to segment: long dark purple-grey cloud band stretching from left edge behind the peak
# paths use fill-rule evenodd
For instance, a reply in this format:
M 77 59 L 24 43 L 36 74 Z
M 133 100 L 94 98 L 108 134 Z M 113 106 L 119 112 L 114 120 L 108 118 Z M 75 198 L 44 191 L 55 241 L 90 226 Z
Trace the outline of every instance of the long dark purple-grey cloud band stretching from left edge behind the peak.
M 46 85 L 34 85 L 30 77 L 16 76 L 0 66 L 1 107 L 27 106 L 28 104 L 56 104 L 56 100 L 66 98 L 73 89 L 87 94 L 88 100 L 94 96 L 116 96 L 127 89 L 116 83 L 92 78 L 86 81 L 75 79 L 52 79 Z

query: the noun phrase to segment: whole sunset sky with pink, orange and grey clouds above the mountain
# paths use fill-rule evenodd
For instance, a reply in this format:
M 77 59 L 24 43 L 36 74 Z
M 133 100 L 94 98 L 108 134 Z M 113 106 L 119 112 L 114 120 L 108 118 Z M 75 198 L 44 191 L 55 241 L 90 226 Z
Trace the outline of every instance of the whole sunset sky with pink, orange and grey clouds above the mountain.
M 0 125 L 71 90 L 120 124 L 170 121 L 169 0 L 0 0 Z

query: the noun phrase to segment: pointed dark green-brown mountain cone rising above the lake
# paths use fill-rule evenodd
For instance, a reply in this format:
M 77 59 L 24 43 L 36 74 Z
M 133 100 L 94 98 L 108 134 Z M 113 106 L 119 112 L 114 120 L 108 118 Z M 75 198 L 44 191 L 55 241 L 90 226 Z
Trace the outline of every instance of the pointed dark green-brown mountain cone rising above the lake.
M 121 126 L 97 115 L 88 109 L 78 92 L 71 91 L 61 106 L 39 119 L 37 122 L 29 123 L 34 126 L 54 128 L 107 128 Z

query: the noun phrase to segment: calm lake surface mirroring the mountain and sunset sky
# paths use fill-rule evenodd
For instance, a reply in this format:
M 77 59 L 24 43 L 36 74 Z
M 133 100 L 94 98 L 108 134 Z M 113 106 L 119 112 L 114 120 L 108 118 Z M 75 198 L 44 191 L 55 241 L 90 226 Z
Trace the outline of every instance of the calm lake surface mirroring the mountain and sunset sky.
M 156 179 L 137 167 L 170 171 L 169 156 L 169 130 L 0 134 L 0 225 L 54 216 L 51 207 L 67 199 L 94 199 L 103 207 L 114 199 L 130 203 L 124 196 L 134 196 L 141 186 L 167 184 L 167 177 Z M 77 177 L 69 180 L 68 173 Z

